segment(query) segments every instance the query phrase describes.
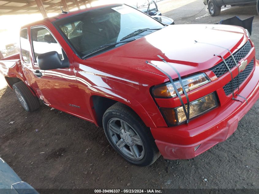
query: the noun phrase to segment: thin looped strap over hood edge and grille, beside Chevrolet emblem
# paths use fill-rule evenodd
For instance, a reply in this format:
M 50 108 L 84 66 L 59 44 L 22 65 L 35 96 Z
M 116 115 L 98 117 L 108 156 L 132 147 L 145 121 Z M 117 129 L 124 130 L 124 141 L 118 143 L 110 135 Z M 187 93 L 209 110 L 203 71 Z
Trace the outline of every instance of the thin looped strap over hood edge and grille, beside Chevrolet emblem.
M 195 41 L 195 43 L 209 44 L 209 45 L 212 45 L 212 46 L 216 46 L 216 47 L 224 48 L 224 47 L 222 47 L 222 46 L 215 45 L 215 44 L 198 42 L 198 41 L 196 41 L 196 40 L 194 40 L 194 41 Z M 224 48 L 224 49 L 226 49 L 226 50 L 230 53 L 230 55 L 231 55 L 232 59 L 234 60 L 234 62 L 235 62 L 235 64 L 236 64 L 236 66 L 237 66 L 237 68 L 238 68 L 238 92 L 239 92 L 239 86 L 240 86 L 240 72 L 239 72 L 238 63 L 237 63 L 236 59 L 234 58 L 233 53 L 232 53 L 228 48 Z M 238 99 L 234 98 L 234 86 L 233 86 L 233 84 L 234 84 L 234 83 L 233 83 L 233 75 L 232 75 L 232 71 L 230 70 L 229 66 L 227 65 L 226 60 L 225 60 L 221 55 L 215 55 L 215 56 L 218 56 L 218 57 L 220 57 L 221 59 L 223 59 L 223 62 L 225 63 L 225 65 L 227 66 L 227 69 L 229 70 L 229 72 L 230 72 L 230 74 L 231 74 L 232 99 L 233 99 L 233 100 L 236 100 L 236 101 L 240 101 L 240 100 L 238 100 Z M 248 104 L 248 101 L 247 101 L 247 99 L 246 99 L 245 97 L 243 97 L 243 96 L 241 96 L 241 95 L 239 95 L 239 94 L 236 94 L 236 95 L 237 95 L 238 97 L 241 97 L 241 98 L 245 99 L 246 104 Z M 242 101 L 240 101 L 240 102 L 242 102 Z M 243 102 L 242 102 L 242 103 L 243 103 Z

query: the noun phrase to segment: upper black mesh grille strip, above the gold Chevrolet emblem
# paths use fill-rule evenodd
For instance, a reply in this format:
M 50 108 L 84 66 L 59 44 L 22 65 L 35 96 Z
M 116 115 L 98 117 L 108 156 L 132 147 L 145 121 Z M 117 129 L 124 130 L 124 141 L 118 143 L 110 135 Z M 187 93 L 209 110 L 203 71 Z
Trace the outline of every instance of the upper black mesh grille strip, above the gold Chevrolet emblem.
M 241 59 L 243 59 L 249 53 L 251 48 L 252 48 L 251 43 L 248 40 L 242 48 L 240 48 L 237 52 L 235 52 L 233 54 L 236 62 L 238 63 Z M 226 63 L 230 69 L 232 69 L 236 65 L 232 56 L 230 56 L 228 59 L 226 59 Z M 213 67 L 211 70 L 217 77 L 220 77 L 221 75 L 227 73 L 227 71 L 228 71 L 227 66 L 225 65 L 224 61 L 219 63 L 217 66 Z

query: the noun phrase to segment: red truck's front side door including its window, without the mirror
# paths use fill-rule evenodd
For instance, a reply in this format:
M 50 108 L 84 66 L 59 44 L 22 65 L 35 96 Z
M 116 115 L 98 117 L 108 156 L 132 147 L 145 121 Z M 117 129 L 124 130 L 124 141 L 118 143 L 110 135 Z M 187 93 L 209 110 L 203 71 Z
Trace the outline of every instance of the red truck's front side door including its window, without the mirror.
M 56 109 L 76 114 L 87 118 L 86 110 L 82 110 L 82 99 L 78 91 L 78 85 L 74 73 L 72 60 L 67 59 L 67 55 L 52 33 L 44 26 L 33 27 L 31 29 L 31 44 L 33 64 L 31 76 L 34 78 L 34 88 L 36 88 L 40 99 L 45 104 Z M 37 56 L 57 51 L 60 59 L 69 60 L 70 67 L 63 69 L 40 70 L 37 64 Z

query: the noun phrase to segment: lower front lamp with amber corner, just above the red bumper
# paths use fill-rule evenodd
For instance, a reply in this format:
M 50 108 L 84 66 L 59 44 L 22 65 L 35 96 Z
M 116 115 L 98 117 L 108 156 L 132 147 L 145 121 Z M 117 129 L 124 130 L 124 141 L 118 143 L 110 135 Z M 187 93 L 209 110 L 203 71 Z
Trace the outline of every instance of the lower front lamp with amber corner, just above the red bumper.
M 190 103 L 190 119 L 200 116 L 205 112 L 217 108 L 218 106 L 215 93 L 211 93 L 205 97 L 193 101 Z M 185 105 L 185 108 L 187 108 L 187 105 Z M 169 126 L 178 125 L 186 121 L 185 112 L 182 106 L 177 108 L 161 108 L 161 111 L 164 114 Z

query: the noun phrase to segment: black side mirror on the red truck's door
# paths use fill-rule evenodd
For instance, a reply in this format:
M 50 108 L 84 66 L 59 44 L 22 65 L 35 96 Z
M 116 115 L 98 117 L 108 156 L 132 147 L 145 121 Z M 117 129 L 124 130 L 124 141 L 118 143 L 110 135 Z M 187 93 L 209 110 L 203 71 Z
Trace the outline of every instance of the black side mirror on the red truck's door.
M 68 58 L 66 55 L 64 55 L 64 58 L 64 60 L 61 60 L 57 51 L 51 51 L 38 55 L 37 63 L 40 70 L 68 68 Z

